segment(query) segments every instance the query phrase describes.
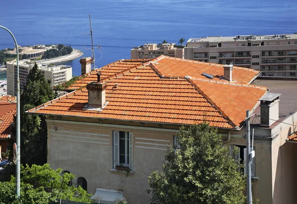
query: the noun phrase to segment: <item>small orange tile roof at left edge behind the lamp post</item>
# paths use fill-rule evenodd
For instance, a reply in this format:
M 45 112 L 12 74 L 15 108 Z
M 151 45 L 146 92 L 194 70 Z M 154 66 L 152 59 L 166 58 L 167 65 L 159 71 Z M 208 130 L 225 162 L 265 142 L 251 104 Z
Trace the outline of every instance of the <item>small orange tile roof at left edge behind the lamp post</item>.
M 0 104 L 0 138 L 8 138 L 10 134 L 10 123 L 16 114 L 16 104 Z

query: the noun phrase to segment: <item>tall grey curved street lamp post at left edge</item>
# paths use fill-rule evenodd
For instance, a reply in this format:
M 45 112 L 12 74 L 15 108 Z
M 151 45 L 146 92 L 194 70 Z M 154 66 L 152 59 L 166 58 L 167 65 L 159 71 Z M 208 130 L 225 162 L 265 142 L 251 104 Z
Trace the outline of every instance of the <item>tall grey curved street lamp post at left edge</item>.
M 21 162 L 21 153 L 20 153 L 20 79 L 19 79 L 19 52 L 18 52 L 18 45 L 17 42 L 12 35 L 12 33 L 5 27 L 0 26 L 6 30 L 13 38 L 15 47 L 16 47 L 16 67 L 17 67 L 17 95 L 16 95 L 16 182 L 15 182 L 15 191 L 16 191 L 16 198 L 20 197 L 20 162 Z

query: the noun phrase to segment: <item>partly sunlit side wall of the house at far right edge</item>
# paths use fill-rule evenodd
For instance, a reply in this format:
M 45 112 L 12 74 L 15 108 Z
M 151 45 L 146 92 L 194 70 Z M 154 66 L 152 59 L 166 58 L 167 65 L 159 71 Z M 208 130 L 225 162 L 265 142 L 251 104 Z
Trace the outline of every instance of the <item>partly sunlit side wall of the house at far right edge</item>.
M 277 135 L 272 141 L 271 158 L 273 204 L 293 204 L 297 201 L 297 143 L 287 142 L 288 136 L 297 131 L 296 124 L 297 113 L 288 116 L 282 123 L 276 122 L 272 128 L 272 134 Z

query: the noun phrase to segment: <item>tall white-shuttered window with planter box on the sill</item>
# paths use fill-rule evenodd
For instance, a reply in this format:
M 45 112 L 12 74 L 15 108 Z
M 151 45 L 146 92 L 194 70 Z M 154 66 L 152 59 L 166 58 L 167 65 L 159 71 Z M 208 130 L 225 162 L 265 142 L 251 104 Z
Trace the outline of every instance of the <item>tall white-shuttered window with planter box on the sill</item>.
M 113 131 L 113 168 L 117 165 L 132 169 L 132 132 Z

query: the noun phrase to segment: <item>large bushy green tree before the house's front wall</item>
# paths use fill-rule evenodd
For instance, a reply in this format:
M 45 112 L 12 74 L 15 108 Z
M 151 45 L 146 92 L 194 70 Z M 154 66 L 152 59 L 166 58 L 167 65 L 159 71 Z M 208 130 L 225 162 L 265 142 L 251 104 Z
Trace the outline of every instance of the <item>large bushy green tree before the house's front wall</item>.
M 245 176 L 207 123 L 182 127 L 180 147 L 169 148 L 162 172 L 148 177 L 151 202 L 158 204 L 244 204 Z

